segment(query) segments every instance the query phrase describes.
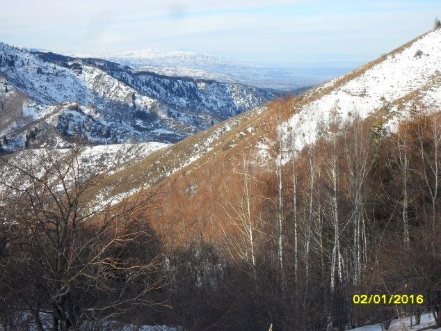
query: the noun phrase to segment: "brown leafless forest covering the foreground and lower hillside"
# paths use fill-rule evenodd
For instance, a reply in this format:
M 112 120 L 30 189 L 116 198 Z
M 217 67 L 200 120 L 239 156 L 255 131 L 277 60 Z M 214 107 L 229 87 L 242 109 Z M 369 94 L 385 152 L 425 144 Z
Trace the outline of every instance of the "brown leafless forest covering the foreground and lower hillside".
M 23 307 L 39 313 L 43 328 L 56 305 L 57 323 L 98 318 L 97 327 L 114 316 L 112 330 L 134 321 L 190 330 L 387 328 L 424 309 L 440 327 L 439 109 L 415 104 L 391 130 L 358 113 L 342 120 L 334 108 L 314 143 L 296 150 L 273 126 L 291 102 L 271 104 L 260 122 L 274 142 L 266 159 L 243 139 L 117 204 L 96 195 L 118 186 L 114 177 L 81 170 L 75 152 L 65 152 L 67 163 L 49 154 L 3 159 L 3 185 L 17 187 L 2 198 L 3 323 L 21 321 Z M 47 181 L 35 181 L 43 164 Z M 79 186 L 67 193 L 70 185 Z M 56 239 L 61 229 L 69 234 Z M 415 301 L 354 305 L 364 293 Z

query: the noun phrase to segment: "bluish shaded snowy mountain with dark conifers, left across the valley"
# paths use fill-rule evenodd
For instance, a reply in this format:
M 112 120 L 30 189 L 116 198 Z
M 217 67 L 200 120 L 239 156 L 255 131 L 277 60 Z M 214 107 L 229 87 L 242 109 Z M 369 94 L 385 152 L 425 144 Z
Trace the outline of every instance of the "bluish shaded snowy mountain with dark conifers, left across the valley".
M 33 145 L 35 136 L 51 137 L 58 147 L 81 135 L 101 144 L 175 142 L 273 97 L 237 83 L 136 72 L 5 44 L 0 84 L 0 136 L 11 151 Z

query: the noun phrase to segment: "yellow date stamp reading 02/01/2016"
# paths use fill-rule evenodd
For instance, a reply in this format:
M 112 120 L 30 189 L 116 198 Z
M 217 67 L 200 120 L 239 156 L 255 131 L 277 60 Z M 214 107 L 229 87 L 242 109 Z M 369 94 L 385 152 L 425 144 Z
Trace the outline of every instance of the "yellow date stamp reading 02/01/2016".
M 422 294 L 354 294 L 354 305 L 422 305 Z

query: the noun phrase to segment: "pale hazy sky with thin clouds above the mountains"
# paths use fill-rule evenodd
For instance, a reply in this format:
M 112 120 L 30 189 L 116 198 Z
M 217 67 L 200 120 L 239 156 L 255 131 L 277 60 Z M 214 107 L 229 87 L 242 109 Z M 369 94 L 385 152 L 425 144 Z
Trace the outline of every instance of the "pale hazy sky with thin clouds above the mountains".
M 51 50 L 191 49 L 253 61 L 377 58 L 433 27 L 440 0 L 0 0 L 0 41 Z

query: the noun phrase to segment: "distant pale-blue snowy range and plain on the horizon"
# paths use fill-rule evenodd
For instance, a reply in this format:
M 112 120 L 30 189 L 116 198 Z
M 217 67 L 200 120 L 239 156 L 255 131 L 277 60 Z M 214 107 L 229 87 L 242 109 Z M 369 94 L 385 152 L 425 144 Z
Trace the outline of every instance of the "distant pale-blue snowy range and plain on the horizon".
M 194 51 L 61 51 L 76 57 L 104 58 L 128 65 L 134 70 L 155 72 L 167 76 L 190 76 L 195 79 L 214 79 L 228 83 L 244 83 L 273 90 L 296 90 L 313 86 L 344 74 L 351 65 L 268 65 L 236 60 L 227 56 L 196 53 Z

